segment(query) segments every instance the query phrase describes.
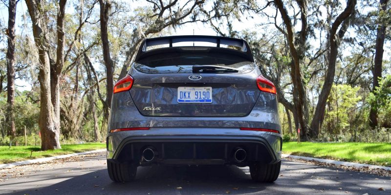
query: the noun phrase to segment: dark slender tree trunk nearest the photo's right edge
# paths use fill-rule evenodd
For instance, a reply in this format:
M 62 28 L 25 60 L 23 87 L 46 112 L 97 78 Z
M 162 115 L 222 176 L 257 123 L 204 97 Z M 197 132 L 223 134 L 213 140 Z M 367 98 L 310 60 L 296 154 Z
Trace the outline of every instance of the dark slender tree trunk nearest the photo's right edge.
M 380 0 L 379 2 L 379 19 L 381 19 L 381 15 L 384 15 L 384 12 L 387 12 L 387 4 L 388 0 Z M 380 23 L 380 21 L 379 21 Z M 376 35 L 376 46 L 375 46 L 375 57 L 374 57 L 374 65 L 373 65 L 373 87 L 372 91 L 375 91 L 376 87 L 379 87 L 379 79 L 382 78 L 382 64 L 383 64 L 383 53 L 384 53 L 384 40 L 386 38 L 386 28 L 387 24 L 380 23 L 377 27 L 377 35 Z M 375 105 L 371 105 L 371 109 L 369 112 L 369 125 L 374 129 L 377 125 L 377 109 Z

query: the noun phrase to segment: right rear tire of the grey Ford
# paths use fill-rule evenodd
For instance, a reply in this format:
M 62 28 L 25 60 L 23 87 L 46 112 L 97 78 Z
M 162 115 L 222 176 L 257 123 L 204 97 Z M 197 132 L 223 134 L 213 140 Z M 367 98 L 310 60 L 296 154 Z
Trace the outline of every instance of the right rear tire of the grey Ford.
M 261 164 L 256 162 L 250 165 L 251 178 L 257 182 L 274 182 L 280 174 L 281 161 L 276 164 Z

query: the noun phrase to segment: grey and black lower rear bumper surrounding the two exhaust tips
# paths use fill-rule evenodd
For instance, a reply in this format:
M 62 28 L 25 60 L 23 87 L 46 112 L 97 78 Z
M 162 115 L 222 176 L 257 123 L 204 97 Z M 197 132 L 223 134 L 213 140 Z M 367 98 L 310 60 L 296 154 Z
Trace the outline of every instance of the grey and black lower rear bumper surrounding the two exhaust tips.
M 145 161 L 142 151 L 152 148 L 155 158 Z M 234 152 L 247 152 L 238 162 Z M 278 133 L 217 128 L 151 128 L 109 133 L 107 158 L 116 162 L 151 164 L 234 164 L 247 166 L 259 161 L 274 164 L 281 160 L 282 138 Z

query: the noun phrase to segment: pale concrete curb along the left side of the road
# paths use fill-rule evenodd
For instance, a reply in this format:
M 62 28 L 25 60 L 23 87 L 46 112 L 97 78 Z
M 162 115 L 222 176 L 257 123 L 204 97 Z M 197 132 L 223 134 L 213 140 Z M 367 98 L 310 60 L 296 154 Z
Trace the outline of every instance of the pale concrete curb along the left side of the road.
M 84 154 L 90 154 L 90 153 L 98 153 L 98 152 L 106 152 L 106 149 L 100 149 L 100 150 L 94 150 L 94 151 L 87 151 L 87 152 L 79 152 L 79 153 L 71 153 L 71 154 L 64 154 L 59 156 L 51 156 L 51 157 L 45 157 L 45 158 L 37 158 L 32 160 L 23 160 L 13 163 L 7 163 L 7 164 L 0 164 L 0 169 L 20 166 L 20 165 L 28 165 L 32 163 L 39 163 L 39 162 L 46 162 L 50 160 L 60 159 L 60 158 L 67 158 L 71 156 L 77 156 L 77 155 L 84 155 Z

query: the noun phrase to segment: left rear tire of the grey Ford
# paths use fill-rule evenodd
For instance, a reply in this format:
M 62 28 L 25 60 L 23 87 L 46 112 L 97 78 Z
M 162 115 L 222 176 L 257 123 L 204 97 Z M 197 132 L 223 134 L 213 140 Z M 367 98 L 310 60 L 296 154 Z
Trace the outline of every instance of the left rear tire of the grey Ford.
M 114 182 L 129 182 L 134 180 L 137 166 L 131 163 L 115 163 L 107 161 L 109 177 Z

